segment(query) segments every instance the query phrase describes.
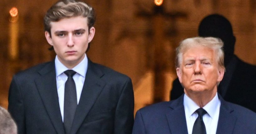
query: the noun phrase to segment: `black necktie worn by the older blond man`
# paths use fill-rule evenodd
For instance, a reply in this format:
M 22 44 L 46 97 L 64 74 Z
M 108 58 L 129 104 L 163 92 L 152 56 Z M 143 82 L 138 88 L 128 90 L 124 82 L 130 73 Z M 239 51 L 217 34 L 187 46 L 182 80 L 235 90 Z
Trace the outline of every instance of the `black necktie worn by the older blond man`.
M 206 134 L 203 115 L 207 112 L 203 108 L 198 108 L 196 113 L 198 114 L 198 117 L 194 123 L 192 134 Z

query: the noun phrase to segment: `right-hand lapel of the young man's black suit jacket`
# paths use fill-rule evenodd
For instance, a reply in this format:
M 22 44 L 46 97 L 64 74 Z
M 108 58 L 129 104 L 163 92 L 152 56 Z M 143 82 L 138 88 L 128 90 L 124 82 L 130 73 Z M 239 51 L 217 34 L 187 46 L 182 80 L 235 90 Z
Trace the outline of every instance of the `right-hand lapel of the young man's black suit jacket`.
M 94 63 L 88 59 L 86 78 L 81 92 L 79 104 L 76 108 L 71 134 L 75 134 L 77 132 L 91 107 L 102 92 L 102 89 L 106 84 L 100 79 L 103 75 L 104 73 L 102 73 L 101 70 L 94 66 Z

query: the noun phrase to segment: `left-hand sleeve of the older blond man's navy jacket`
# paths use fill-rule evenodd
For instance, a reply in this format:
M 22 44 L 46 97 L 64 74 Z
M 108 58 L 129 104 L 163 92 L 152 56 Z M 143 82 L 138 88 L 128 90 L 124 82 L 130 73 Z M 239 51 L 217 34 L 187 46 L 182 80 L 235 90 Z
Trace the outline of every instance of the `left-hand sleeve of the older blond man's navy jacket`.
M 132 134 L 146 134 L 145 125 L 140 110 L 136 112 Z

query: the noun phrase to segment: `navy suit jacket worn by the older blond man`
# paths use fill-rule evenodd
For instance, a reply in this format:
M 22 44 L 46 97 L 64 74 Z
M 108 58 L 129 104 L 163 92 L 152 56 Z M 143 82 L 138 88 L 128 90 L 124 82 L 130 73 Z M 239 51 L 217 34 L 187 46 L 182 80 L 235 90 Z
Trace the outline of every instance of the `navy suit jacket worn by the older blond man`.
M 133 134 L 187 134 L 183 97 L 138 110 Z M 256 113 L 219 98 L 221 106 L 216 134 L 256 134 Z

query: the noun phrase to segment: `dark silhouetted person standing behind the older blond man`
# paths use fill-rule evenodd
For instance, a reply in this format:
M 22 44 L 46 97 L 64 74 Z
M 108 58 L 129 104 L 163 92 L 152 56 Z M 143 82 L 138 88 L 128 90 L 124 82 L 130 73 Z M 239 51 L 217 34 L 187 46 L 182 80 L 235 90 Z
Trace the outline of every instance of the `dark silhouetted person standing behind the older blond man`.
M 218 37 L 224 42 L 226 72 L 218 86 L 218 93 L 226 101 L 256 112 L 256 66 L 245 63 L 234 55 L 236 37 L 230 22 L 221 15 L 209 15 L 201 21 L 198 34 L 201 37 Z M 183 93 L 184 88 L 177 78 L 173 82 L 170 100 L 177 99 Z

